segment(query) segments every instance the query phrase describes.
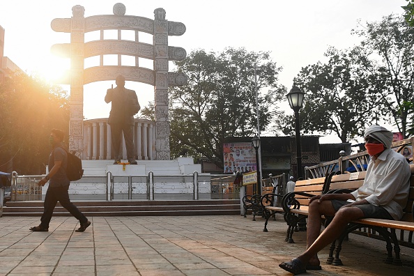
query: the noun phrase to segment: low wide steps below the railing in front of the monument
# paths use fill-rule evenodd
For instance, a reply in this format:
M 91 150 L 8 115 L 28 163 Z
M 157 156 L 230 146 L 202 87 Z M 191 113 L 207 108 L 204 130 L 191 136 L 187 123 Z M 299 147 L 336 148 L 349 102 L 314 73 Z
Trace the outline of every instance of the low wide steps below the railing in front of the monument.
M 127 215 L 240 215 L 239 199 L 171 200 L 171 201 L 73 201 L 86 216 Z M 9 201 L 3 216 L 40 217 L 43 201 Z M 56 216 L 70 216 L 56 205 Z

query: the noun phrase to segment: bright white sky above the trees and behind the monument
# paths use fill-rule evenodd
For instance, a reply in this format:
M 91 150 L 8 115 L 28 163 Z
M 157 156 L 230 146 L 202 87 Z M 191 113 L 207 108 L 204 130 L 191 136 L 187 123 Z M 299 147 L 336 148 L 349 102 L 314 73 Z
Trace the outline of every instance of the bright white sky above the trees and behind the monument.
M 72 16 L 72 6 L 85 8 L 85 17 L 112 15 L 117 1 L 108 0 L 0 0 L 0 25 L 6 29 L 4 56 L 23 70 L 46 79 L 61 74 L 69 63 L 53 56 L 50 47 L 69 43 L 69 33 L 50 28 L 54 18 Z M 323 61 L 328 46 L 345 49 L 358 43 L 351 29 L 362 23 L 381 20 L 391 13 L 401 14 L 404 0 L 123 0 L 126 15 L 153 19 L 155 8 L 164 8 L 167 20 L 183 22 L 183 36 L 170 36 L 169 45 L 221 52 L 225 47 L 245 47 L 248 51 L 270 51 L 273 61 L 284 69 L 279 82 L 291 87 L 300 68 Z M 88 39 L 86 37 L 86 39 Z M 151 43 L 151 38 L 148 38 Z M 87 67 L 88 63 L 85 63 Z M 172 68 L 170 63 L 170 70 Z M 110 105 L 105 93 L 114 82 L 84 86 L 84 116 L 106 118 Z M 142 107 L 154 99 L 153 86 L 127 82 L 125 87 L 137 92 Z M 69 86 L 63 86 L 69 89 Z M 291 112 L 287 100 L 281 107 Z M 263 134 L 262 134 L 263 135 Z M 270 134 L 269 135 L 273 135 Z M 339 142 L 336 137 L 322 137 L 321 142 Z

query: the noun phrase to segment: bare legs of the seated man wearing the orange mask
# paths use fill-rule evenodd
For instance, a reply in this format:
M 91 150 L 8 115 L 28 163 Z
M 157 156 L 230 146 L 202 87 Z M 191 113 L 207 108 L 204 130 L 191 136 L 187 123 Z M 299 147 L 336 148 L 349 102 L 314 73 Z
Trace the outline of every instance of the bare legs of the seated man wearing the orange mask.
M 325 204 L 325 202 L 327 204 Z M 312 266 L 319 265 L 318 252 L 337 239 L 349 222 L 364 217 L 364 213 L 358 207 L 342 207 L 337 211 L 328 227 L 326 227 L 326 229 L 319 235 L 318 231 L 321 231 L 321 214 L 331 215 L 330 212 L 333 210 L 335 213 L 335 210 L 330 201 L 322 201 L 321 203 L 316 202 L 315 205 L 316 204 L 319 204 L 319 208 L 316 206 L 314 208 L 309 208 L 307 228 L 308 248 L 303 254 L 298 256 L 298 259 L 300 259 L 304 265 L 307 263 Z M 328 204 L 330 204 L 330 207 Z M 312 202 L 311 205 L 314 205 L 314 202 Z M 326 209 L 323 210 L 323 208 Z M 318 213 L 320 214 L 319 218 L 316 217 Z M 316 225 L 316 223 L 319 224 Z

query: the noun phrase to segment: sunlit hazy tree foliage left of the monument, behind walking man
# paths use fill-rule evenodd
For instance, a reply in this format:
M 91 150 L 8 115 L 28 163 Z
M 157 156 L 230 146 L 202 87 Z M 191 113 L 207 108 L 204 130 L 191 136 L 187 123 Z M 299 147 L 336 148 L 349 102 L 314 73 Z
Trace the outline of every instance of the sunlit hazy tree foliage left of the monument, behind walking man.
M 52 128 L 68 130 L 66 92 L 25 74 L 0 84 L 0 167 L 45 172 Z M 12 167 L 13 164 L 13 167 Z

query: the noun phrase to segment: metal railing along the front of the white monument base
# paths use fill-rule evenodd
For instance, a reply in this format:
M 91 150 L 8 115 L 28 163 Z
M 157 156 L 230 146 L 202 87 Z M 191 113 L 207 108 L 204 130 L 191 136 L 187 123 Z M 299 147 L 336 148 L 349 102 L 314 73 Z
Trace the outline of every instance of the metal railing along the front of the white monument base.
M 45 175 L 12 175 L 12 201 L 43 200 L 48 184 L 39 187 L 36 183 Z M 108 171 L 105 176 L 83 176 L 72 181 L 69 196 L 72 200 L 197 200 L 239 199 L 237 187 L 233 187 L 234 176 L 219 174 L 114 176 Z M 220 186 L 220 188 L 219 188 Z

